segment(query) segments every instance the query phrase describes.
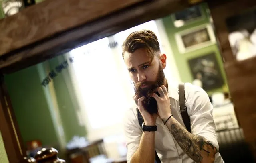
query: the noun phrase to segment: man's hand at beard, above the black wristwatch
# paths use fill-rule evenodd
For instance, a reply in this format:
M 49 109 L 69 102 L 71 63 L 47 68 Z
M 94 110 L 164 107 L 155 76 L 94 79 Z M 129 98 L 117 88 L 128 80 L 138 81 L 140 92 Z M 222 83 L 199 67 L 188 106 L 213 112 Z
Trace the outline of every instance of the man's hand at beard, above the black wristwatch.
M 149 112 L 147 112 L 147 110 L 145 110 L 145 108 L 143 107 L 143 100 L 145 97 L 141 97 L 141 98 L 137 98 L 137 95 L 135 95 L 133 97 L 135 103 L 137 104 L 138 108 L 139 108 L 139 112 L 141 112 L 141 116 L 144 119 L 145 125 L 146 126 L 155 126 L 155 122 L 157 119 L 157 114 L 149 114 Z

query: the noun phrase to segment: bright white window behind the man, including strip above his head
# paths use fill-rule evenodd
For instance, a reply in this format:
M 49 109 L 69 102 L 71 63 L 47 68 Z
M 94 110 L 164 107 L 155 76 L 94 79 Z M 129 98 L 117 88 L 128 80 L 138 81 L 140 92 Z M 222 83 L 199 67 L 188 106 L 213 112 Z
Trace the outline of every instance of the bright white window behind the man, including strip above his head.
M 70 52 L 74 57 L 75 81 L 92 129 L 122 122 L 125 111 L 134 106 L 133 84 L 121 55 L 121 45 L 133 31 L 149 29 L 161 40 L 155 21 L 97 40 Z M 109 43 L 118 46 L 109 48 Z

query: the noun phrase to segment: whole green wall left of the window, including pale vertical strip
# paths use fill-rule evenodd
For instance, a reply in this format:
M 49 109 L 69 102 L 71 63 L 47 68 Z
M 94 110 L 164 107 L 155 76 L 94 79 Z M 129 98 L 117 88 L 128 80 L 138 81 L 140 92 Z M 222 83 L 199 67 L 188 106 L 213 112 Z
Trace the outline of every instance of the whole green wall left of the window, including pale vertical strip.
M 75 112 L 72 90 L 68 90 L 70 83 L 64 79 L 68 72 L 62 70 L 45 87 L 41 84 L 57 65 L 54 58 L 5 76 L 24 143 L 38 139 L 43 145 L 63 148 L 73 136 L 86 136 Z

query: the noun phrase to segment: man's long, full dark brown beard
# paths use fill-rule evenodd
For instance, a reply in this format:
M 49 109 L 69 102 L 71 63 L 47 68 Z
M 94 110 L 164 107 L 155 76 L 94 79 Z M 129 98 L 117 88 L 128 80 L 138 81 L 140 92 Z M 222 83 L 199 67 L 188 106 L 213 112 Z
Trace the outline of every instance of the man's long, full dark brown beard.
M 145 99 L 143 100 L 143 107 L 149 112 L 149 114 L 157 113 L 157 101 L 155 98 L 151 97 L 153 93 L 156 93 L 159 96 L 159 93 L 157 92 L 157 88 L 159 88 L 161 85 L 164 85 L 165 82 L 165 75 L 163 73 L 163 68 L 161 65 L 159 65 L 159 71 L 157 73 L 157 80 L 154 82 L 138 82 L 134 86 L 135 94 L 138 96 L 138 98 L 144 96 Z M 142 85 L 146 85 L 147 87 L 141 88 Z M 166 88 L 168 90 L 168 84 L 166 82 Z

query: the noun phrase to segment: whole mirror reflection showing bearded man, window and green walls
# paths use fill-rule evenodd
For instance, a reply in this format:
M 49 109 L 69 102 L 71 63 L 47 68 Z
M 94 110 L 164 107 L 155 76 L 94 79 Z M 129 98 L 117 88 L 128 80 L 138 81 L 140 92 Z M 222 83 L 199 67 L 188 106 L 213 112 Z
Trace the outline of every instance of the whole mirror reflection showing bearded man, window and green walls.
M 253 162 L 211 20 L 200 4 L 5 75 L 27 154 L 54 147 L 68 163 L 153 162 L 155 149 L 162 163 Z

